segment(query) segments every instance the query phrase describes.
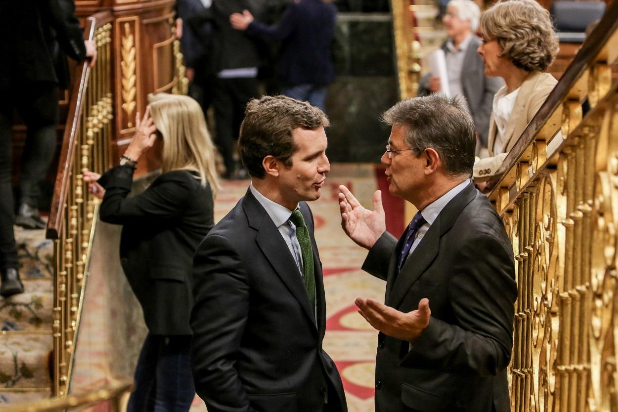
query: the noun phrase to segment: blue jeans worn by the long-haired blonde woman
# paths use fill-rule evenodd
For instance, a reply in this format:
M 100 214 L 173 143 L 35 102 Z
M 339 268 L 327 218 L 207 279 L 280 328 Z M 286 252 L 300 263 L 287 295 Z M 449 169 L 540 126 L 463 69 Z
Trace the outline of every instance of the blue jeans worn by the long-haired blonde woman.
M 189 336 L 148 333 L 127 412 L 187 412 L 195 398 Z

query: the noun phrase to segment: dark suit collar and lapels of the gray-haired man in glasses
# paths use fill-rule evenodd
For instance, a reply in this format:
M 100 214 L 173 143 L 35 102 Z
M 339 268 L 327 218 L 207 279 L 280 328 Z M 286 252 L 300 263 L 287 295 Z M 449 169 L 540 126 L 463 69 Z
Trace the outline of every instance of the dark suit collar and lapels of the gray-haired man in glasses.
M 395 249 L 396 252 L 394 252 L 391 257 L 391 264 L 389 265 L 389 273 L 386 281 L 386 304 L 388 306 L 399 306 L 404 296 L 408 293 L 408 290 L 431 265 L 436 255 L 438 255 L 440 238 L 451 229 L 464 207 L 472 202 L 477 193 L 478 191 L 472 182 L 470 182 L 463 191 L 457 194 L 451 202 L 442 209 L 442 212 L 440 212 L 436 220 L 434 220 L 433 225 L 430 226 L 425 236 L 423 236 L 423 241 L 421 241 L 412 254 L 408 256 L 399 275 L 397 275 L 396 256 L 397 251 L 401 250 L 401 243 L 404 236 L 399 239 Z

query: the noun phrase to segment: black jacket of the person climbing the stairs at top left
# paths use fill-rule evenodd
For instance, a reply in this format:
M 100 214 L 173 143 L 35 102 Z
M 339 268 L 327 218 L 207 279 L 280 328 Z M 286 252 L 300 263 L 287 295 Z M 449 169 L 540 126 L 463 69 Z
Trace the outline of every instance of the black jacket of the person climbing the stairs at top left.
M 0 1 L 0 15 L 0 88 L 41 81 L 66 88 L 65 54 L 77 61 L 86 56 L 74 1 Z

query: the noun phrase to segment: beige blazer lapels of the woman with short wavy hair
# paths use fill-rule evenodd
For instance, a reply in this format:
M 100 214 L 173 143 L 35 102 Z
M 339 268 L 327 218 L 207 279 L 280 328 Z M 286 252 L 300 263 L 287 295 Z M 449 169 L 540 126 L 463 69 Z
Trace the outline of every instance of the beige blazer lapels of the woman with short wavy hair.
M 533 103 L 530 98 L 531 93 L 533 93 L 538 86 L 538 83 L 543 80 L 543 72 L 532 72 L 527 77 L 526 80 L 523 80 L 522 85 L 519 88 L 519 93 L 517 93 L 517 98 L 515 99 L 515 105 L 513 106 L 513 111 L 510 113 L 509 122 L 504 129 L 504 152 L 509 152 L 509 150 L 515 145 L 517 139 L 519 139 L 520 135 L 522 135 L 526 126 L 528 126 L 528 122 L 532 120 L 532 118 L 528 118 L 528 108 Z M 502 86 L 500 90 L 496 92 L 504 93 L 506 90 L 506 85 Z M 535 113 L 532 114 L 534 116 Z M 528 119 L 528 121 L 522 121 L 521 119 Z M 494 142 L 496 141 L 496 133 L 498 132 L 498 127 L 496 125 L 496 121 L 494 120 L 494 112 L 491 112 L 491 120 L 489 121 L 489 156 L 496 156 L 500 153 L 494 153 Z

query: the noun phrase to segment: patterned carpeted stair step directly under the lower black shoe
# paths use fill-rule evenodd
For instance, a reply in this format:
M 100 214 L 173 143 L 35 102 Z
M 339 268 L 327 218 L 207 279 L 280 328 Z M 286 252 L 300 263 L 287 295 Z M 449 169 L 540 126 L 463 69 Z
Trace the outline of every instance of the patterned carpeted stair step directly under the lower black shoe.
M 54 290 L 51 281 L 23 282 L 24 293 L 0 298 L 0 329 L 51 331 Z

